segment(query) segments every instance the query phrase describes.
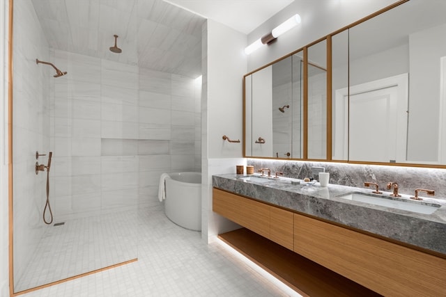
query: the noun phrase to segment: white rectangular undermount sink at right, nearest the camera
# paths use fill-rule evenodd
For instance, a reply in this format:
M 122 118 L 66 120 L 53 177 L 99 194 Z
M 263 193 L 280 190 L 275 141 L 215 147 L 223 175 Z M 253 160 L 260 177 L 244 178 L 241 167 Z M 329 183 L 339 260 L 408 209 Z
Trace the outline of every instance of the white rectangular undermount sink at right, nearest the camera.
M 394 209 L 412 211 L 418 214 L 432 214 L 433 211 L 436 211 L 441 206 L 440 204 L 425 204 L 420 201 L 412 200 L 395 200 L 390 196 L 367 195 L 364 193 L 356 192 L 348 193 L 346 195 L 339 196 L 338 198 L 380 205 L 383 207 L 392 207 Z

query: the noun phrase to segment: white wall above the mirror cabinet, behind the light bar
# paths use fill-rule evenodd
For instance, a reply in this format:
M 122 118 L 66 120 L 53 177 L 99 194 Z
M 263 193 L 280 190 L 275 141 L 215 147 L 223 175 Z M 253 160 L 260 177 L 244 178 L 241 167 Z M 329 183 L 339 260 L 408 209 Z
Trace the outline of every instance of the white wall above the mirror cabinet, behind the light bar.
M 295 13 L 298 13 L 302 18 L 299 26 L 284 33 L 272 45 L 264 46 L 254 51 L 248 59 L 248 71 L 275 61 L 275 59 L 289 54 L 291 51 L 308 45 L 318 38 L 352 24 L 358 19 L 366 17 L 397 1 L 318 0 L 317 2 L 317 5 L 315 5 L 314 1 L 296 0 L 249 33 L 247 41 L 251 43 L 269 33 L 275 26 L 282 24 L 286 19 L 295 15 Z

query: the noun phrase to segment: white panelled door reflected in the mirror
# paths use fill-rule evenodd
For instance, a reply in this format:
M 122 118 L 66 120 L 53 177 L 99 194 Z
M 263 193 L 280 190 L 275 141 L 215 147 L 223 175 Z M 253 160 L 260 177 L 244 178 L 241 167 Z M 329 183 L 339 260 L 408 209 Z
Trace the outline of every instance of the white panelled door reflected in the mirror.
M 351 88 L 348 159 L 403 163 L 406 160 L 407 75 Z

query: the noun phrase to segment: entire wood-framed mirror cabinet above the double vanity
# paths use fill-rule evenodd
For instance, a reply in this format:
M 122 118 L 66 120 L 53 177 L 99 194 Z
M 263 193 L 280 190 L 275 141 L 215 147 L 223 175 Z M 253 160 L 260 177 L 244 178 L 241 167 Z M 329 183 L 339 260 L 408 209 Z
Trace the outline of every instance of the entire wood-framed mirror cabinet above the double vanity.
M 270 93 L 278 96 L 270 102 L 293 109 L 291 141 L 287 138 L 292 147 L 290 157 L 445 166 L 445 11 L 443 0 L 409 0 L 313 42 L 304 47 L 306 55 L 293 53 L 269 65 Z M 295 82 L 299 71 L 296 55 L 302 65 L 300 88 Z M 293 74 L 289 103 L 285 88 L 275 93 L 273 82 L 280 80 L 273 69 L 278 65 L 285 68 L 285 63 Z M 254 78 L 257 72 L 247 77 Z M 249 104 L 261 104 L 254 96 L 254 83 L 250 92 L 245 93 L 247 112 Z M 272 118 L 272 154 L 245 150 L 245 156 L 287 157 L 284 137 L 274 137 L 275 131 L 289 131 L 283 129 L 286 118 L 280 118 L 282 125 L 275 124 L 279 116 L 275 113 L 281 113 L 278 107 L 270 109 L 271 115 L 261 115 Z M 266 109 L 263 112 L 268 113 Z M 252 122 L 246 116 L 245 127 L 254 129 L 259 125 L 257 114 L 250 116 Z M 256 138 L 246 137 L 245 147 Z

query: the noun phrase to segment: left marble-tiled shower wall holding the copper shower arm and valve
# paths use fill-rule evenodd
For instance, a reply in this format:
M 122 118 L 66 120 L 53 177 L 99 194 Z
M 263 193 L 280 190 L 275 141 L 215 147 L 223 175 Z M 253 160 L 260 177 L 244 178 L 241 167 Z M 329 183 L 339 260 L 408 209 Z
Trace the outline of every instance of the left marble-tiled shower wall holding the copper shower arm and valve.
M 13 195 L 14 195 L 14 273 L 15 281 L 26 270 L 46 225 L 46 175 L 36 175 L 36 150 L 49 151 L 49 83 L 52 68 L 36 64 L 36 58 L 49 61 L 49 46 L 31 1 L 16 1 L 13 51 Z M 47 163 L 42 156 L 39 163 Z

